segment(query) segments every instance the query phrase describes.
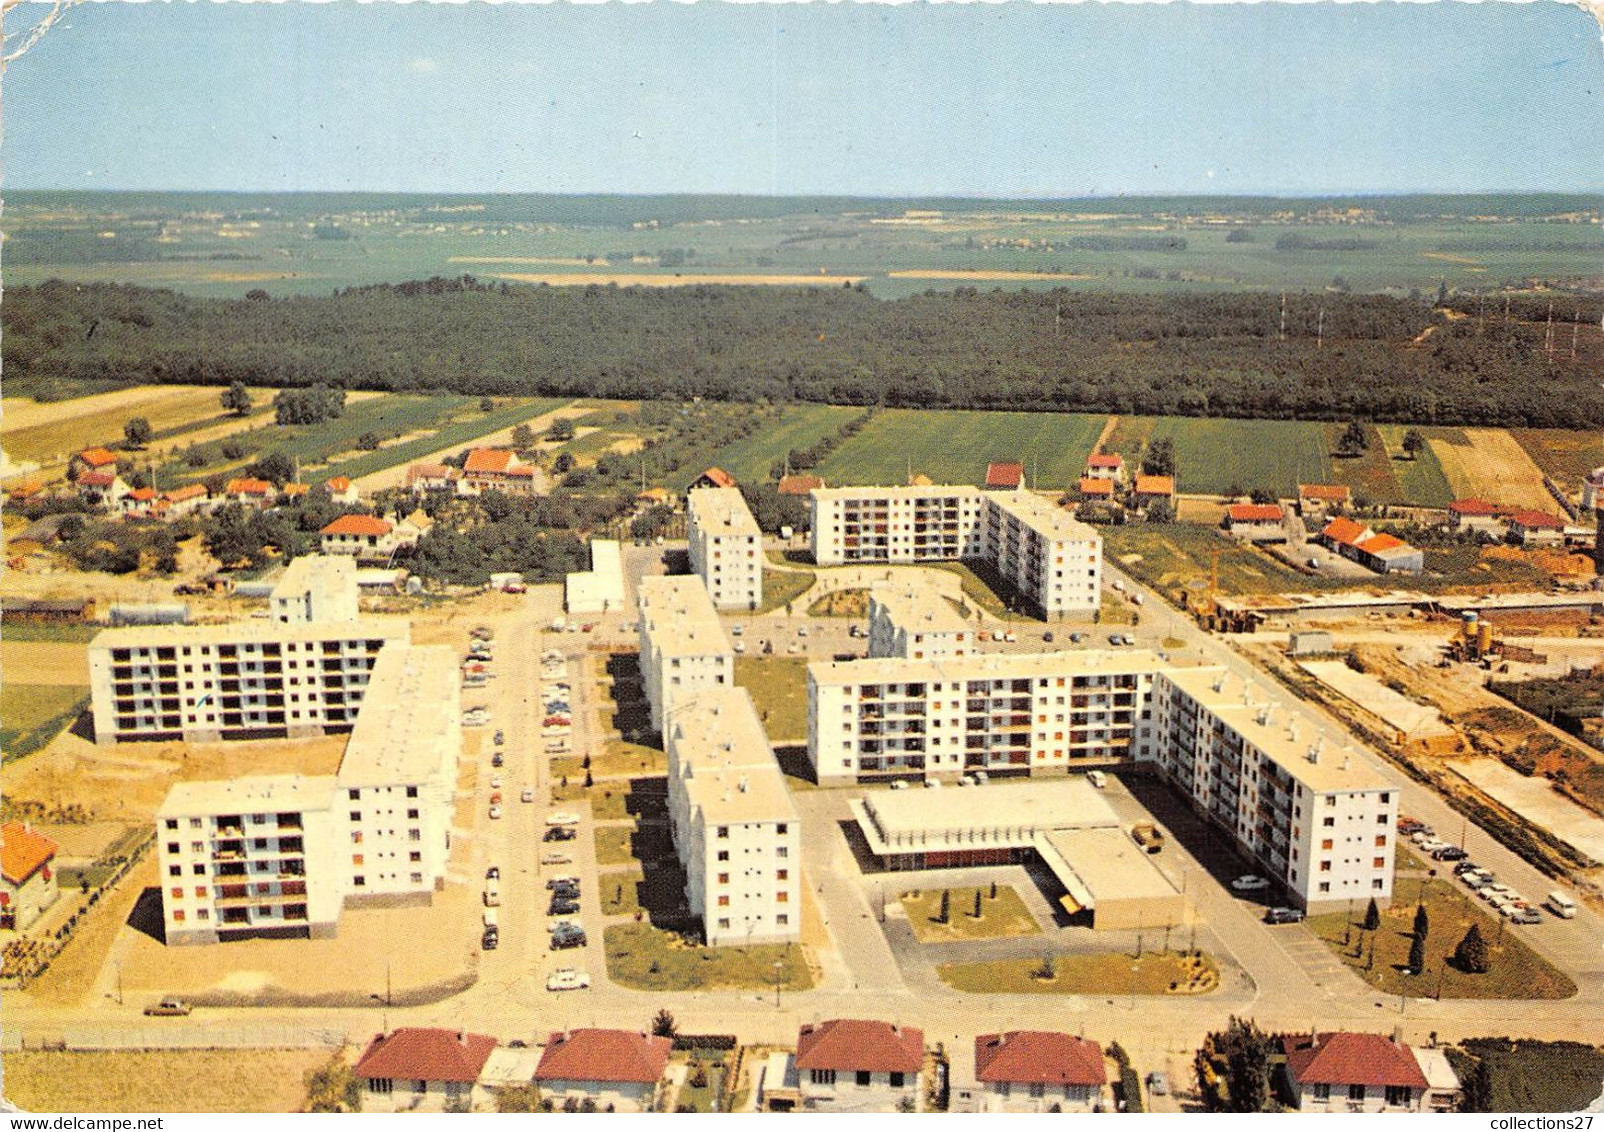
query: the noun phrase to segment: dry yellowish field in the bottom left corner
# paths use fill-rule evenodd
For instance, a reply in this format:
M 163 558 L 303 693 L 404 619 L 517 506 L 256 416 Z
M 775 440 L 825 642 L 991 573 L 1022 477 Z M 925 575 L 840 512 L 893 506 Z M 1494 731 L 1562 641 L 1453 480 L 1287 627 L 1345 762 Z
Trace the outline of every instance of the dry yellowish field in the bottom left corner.
M 327 1060 L 324 1049 L 27 1050 L 0 1063 L 6 1100 L 29 1113 L 294 1113 Z

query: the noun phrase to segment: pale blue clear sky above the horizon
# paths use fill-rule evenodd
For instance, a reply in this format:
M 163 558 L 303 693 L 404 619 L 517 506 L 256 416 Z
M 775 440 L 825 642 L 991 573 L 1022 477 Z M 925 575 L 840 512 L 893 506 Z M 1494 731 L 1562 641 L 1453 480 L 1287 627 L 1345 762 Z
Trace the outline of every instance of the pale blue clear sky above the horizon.
M 1604 189 L 1599 26 L 1543 0 L 90 2 L 3 95 L 14 189 Z

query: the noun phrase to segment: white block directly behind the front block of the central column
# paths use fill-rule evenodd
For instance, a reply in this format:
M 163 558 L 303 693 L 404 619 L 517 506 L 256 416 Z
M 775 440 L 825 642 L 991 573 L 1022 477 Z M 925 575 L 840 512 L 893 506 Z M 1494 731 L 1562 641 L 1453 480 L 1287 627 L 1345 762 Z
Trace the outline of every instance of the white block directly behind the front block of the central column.
M 651 725 L 667 731 L 675 702 L 703 688 L 735 685 L 735 651 L 701 579 L 643 577 L 640 608 L 640 680 Z

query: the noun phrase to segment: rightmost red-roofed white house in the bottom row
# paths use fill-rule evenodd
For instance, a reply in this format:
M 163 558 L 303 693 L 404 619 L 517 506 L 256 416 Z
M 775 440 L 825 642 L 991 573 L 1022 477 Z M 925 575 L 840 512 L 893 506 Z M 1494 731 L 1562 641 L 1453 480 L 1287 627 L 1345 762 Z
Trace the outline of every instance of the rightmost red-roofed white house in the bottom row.
M 1429 1082 L 1415 1050 L 1381 1034 L 1282 1037 L 1286 1084 L 1302 1113 L 1418 1113 Z

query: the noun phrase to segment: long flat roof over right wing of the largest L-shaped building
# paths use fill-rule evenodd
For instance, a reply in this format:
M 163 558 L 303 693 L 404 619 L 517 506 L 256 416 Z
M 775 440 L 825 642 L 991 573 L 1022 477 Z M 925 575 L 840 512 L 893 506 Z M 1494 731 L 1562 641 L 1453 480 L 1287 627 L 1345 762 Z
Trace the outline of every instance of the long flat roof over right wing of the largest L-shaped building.
M 1160 677 L 1235 730 L 1310 790 L 1399 789 L 1346 731 L 1266 685 L 1219 667 L 1165 669 Z M 1310 752 L 1315 755 L 1310 762 Z

